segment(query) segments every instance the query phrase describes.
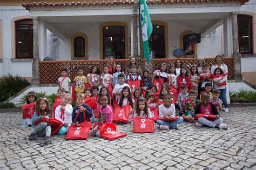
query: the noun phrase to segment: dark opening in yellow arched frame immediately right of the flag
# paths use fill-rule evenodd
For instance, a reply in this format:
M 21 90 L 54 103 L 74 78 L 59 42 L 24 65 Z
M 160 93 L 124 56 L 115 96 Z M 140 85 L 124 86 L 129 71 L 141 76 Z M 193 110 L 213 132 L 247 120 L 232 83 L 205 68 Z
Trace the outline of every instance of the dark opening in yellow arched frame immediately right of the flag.
M 149 39 L 149 47 L 152 58 L 165 58 L 164 26 L 153 25 L 153 31 Z

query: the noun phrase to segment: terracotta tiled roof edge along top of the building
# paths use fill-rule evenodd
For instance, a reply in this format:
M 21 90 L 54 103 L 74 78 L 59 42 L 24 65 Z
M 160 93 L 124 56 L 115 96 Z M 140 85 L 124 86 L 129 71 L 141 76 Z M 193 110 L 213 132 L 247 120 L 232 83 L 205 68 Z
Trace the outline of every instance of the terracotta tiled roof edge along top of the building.
M 241 2 L 245 4 L 249 0 L 147 0 L 147 4 L 185 4 L 185 3 L 220 3 L 220 2 Z M 108 0 L 108 1 L 84 1 L 84 2 L 26 2 L 22 6 L 29 10 L 30 7 L 62 7 L 62 6 L 90 6 L 90 5 L 119 5 L 138 3 L 139 0 Z

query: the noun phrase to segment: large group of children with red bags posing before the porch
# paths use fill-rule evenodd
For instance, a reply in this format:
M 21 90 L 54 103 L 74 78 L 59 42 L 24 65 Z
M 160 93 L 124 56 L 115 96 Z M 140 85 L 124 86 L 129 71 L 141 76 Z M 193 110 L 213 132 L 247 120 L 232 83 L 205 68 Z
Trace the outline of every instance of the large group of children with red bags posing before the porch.
M 126 105 L 131 106 L 128 122 L 132 122 L 133 117 L 151 119 L 150 108 L 157 108 L 159 119 L 156 123 L 160 126 L 160 130 L 178 129 L 178 124 L 182 121 L 194 123 L 195 126 L 206 125 L 227 129 L 227 125 L 223 124 L 223 119 L 219 115 L 221 112 L 220 90 L 212 90 L 212 79 L 207 74 L 208 67 L 203 65 L 201 74 L 203 78 L 199 79 L 196 65 L 191 66 L 190 74 L 184 67 L 180 67 L 177 74 L 177 68 L 174 65 L 169 66 L 169 73 L 167 73 L 166 66 L 165 63 L 161 64 L 159 70 L 153 72 L 152 79 L 146 70 L 142 75 L 137 73 L 136 65 L 131 65 L 131 73 L 127 75 L 119 64 L 116 65 L 113 74 L 109 73 L 109 66 L 104 66 L 102 74 L 97 66 L 91 66 L 87 77 L 84 76 L 84 70 L 78 68 L 75 89 L 72 92 L 72 96 L 76 93 L 73 99 L 77 106 L 74 108 L 71 106 L 70 78 L 66 76 L 67 70 L 62 69 L 62 77 L 58 79 L 58 97 L 61 99 L 61 104 L 55 111 L 50 110 L 46 98 L 36 100 L 35 96 L 34 101 L 30 101 L 30 103 L 36 102 L 36 111 L 31 119 L 33 131 L 29 140 L 35 140 L 35 135 L 45 135 L 44 143 L 51 142 L 50 126 L 45 122 L 35 125 L 35 122 L 43 117 L 46 119 L 52 117 L 61 121 L 63 126 L 58 134 L 65 135 L 72 123 L 79 126 L 83 121 L 93 121 L 96 113 L 98 122 L 112 123 L 114 108 Z M 221 69 L 215 69 L 214 74 L 221 74 Z M 160 86 L 153 85 L 155 79 L 163 79 L 163 83 Z M 140 81 L 140 88 L 131 90 L 129 81 Z M 199 88 L 199 84 L 204 91 L 201 87 Z M 101 86 L 100 89 L 99 86 Z M 174 99 L 173 90 L 179 92 L 177 99 Z M 29 99 L 30 96 L 28 95 L 27 98 Z M 97 101 L 97 108 L 92 109 L 86 104 L 89 99 Z M 200 113 L 215 115 L 217 119 L 214 121 L 203 117 L 195 119 L 195 115 Z M 98 136 L 98 132 L 94 130 L 91 133 Z

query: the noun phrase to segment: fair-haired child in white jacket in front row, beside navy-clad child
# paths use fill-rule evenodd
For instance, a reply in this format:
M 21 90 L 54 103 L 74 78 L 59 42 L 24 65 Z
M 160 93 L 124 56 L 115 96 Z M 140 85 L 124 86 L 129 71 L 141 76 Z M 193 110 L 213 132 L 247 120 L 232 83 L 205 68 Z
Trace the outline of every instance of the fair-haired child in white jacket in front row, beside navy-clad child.
M 55 119 L 63 123 L 62 128 L 58 131 L 59 135 L 65 135 L 68 132 L 69 126 L 72 123 L 72 111 L 73 107 L 69 104 L 71 101 L 71 96 L 68 93 L 65 93 L 62 96 L 62 104 L 56 107 L 55 110 Z

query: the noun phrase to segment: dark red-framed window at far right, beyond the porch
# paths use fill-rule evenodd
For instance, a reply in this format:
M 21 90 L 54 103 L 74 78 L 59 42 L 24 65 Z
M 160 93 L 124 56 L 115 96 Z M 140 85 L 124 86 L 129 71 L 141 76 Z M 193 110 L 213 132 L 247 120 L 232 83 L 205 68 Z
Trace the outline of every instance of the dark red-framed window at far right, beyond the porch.
M 239 52 L 252 53 L 252 17 L 238 15 L 238 42 Z

